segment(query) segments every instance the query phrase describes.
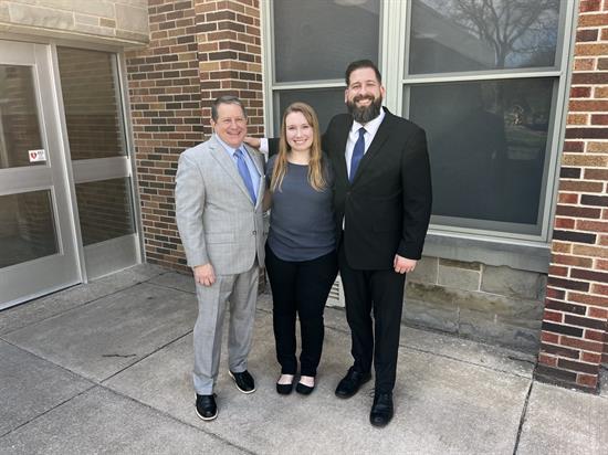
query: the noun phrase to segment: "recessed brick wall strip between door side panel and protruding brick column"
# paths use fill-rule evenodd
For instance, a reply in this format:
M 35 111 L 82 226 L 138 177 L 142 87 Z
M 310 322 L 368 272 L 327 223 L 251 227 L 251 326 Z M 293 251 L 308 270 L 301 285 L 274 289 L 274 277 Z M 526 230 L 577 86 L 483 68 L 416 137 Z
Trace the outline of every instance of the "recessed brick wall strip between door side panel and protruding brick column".
M 205 140 L 195 0 L 149 0 L 150 43 L 126 54 L 146 257 L 186 269 L 175 222 L 177 159 Z

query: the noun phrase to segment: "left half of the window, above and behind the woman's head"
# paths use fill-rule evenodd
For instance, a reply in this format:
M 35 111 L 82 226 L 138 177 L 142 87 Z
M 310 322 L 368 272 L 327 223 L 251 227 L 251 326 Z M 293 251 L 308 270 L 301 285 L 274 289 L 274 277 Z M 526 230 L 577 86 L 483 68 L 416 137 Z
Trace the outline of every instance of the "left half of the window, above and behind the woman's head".
M 280 0 L 263 2 L 272 41 L 273 125 L 291 103 L 308 103 L 321 127 L 344 110 L 344 70 L 348 62 L 378 62 L 380 0 Z M 266 29 L 268 30 L 268 29 Z M 266 42 L 269 42 L 266 40 Z

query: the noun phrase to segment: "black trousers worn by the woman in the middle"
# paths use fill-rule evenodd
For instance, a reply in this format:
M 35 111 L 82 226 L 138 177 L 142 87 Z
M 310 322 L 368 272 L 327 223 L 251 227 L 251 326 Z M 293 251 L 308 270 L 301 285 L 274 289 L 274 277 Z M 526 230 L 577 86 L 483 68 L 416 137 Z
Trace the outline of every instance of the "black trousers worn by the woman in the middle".
M 323 350 L 325 301 L 337 275 L 334 251 L 312 261 L 283 261 L 266 244 L 266 272 L 272 289 L 276 360 L 282 374 L 295 374 L 295 319 L 300 317 L 300 372 L 316 375 Z

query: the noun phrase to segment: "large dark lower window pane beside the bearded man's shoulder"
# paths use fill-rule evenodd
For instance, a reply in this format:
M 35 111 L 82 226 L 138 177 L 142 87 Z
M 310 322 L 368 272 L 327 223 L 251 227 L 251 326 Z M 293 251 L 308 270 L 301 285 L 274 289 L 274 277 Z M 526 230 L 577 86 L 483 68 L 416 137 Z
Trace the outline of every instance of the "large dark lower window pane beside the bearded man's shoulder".
M 552 78 L 411 87 L 411 119 L 428 135 L 434 215 L 537 233 L 553 89 Z

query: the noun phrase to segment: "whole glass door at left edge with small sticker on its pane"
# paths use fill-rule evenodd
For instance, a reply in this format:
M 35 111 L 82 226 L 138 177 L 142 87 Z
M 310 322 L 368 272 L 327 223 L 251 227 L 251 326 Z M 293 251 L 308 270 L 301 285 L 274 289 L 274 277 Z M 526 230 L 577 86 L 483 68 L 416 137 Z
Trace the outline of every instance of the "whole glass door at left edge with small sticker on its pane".
M 50 52 L 0 41 L 0 309 L 82 278 Z

